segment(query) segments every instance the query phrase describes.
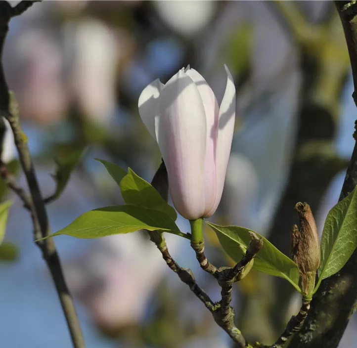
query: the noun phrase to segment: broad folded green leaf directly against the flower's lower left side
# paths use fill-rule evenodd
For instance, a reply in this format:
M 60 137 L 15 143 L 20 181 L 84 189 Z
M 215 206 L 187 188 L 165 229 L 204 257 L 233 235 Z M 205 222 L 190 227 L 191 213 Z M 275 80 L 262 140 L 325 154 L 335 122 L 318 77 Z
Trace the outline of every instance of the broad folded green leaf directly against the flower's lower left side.
M 150 208 L 163 212 L 174 221 L 177 219 L 176 211 L 166 203 L 160 193 L 130 168 L 120 183 L 122 196 L 126 204 Z

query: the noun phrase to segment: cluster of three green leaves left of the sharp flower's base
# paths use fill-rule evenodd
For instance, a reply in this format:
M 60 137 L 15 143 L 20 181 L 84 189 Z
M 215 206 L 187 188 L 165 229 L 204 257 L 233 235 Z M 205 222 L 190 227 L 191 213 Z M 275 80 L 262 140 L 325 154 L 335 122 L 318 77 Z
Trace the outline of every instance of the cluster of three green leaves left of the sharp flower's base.
M 175 223 L 177 214 L 159 192 L 130 168 L 128 173 L 119 166 L 97 159 L 120 186 L 127 205 L 91 210 L 49 237 L 67 234 L 77 238 L 99 238 L 112 234 L 130 233 L 140 229 L 166 231 L 189 238 Z M 48 237 L 46 237 L 48 238 Z

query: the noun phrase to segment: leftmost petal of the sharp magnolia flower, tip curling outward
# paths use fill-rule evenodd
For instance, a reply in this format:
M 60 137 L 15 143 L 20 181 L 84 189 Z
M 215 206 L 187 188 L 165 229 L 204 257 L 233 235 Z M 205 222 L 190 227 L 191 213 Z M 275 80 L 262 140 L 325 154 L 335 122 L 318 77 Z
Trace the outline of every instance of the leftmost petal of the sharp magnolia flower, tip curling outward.
M 159 116 L 159 95 L 164 85 L 159 79 L 146 86 L 139 96 L 138 106 L 142 122 L 156 139 L 155 118 Z

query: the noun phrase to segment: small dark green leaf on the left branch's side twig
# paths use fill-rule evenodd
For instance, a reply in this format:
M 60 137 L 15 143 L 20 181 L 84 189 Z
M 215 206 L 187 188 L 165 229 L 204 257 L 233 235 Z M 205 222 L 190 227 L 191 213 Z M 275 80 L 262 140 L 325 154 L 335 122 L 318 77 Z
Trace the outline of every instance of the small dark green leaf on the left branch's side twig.
M 55 174 L 52 174 L 52 176 L 56 180 L 57 187 L 54 194 L 50 197 L 50 201 L 56 200 L 62 194 L 69 181 L 71 173 L 76 168 L 85 151 L 86 149 L 77 151 L 61 160 L 56 160 L 57 170 Z

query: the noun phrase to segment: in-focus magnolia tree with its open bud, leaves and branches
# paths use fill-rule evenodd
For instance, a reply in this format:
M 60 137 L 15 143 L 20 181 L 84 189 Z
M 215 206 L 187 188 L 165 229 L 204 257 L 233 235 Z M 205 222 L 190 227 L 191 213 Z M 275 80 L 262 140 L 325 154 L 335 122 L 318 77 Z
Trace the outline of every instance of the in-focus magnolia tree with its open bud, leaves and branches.
M 12 7 L 7 1 L 0 0 L 1 49 L 10 19 L 23 13 L 36 1 L 41 0 L 22 0 Z M 345 0 L 335 2 L 345 30 L 356 88 L 357 50 L 354 43 L 357 40 L 357 29 L 353 23 L 357 14 L 357 3 L 348 3 Z M 162 164 L 152 182 L 145 181 L 130 168 L 124 170 L 113 163 L 98 159 L 120 187 L 125 205 L 89 211 L 53 234 L 49 229 L 45 205 L 60 196 L 80 160 L 81 153 L 74 153 L 57 164 L 57 172 L 54 175 L 56 190 L 52 196 L 43 198 L 26 136 L 21 131 L 15 96 L 8 91 L 1 69 L 2 129 L 5 129 L 5 119 L 14 136 L 29 192 L 17 184 L 4 162 L 0 162 L 0 174 L 8 187 L 23 201 L 25 209 L 31 213 L 34 240 L 51 272 L 74 347 L 83 348 L 85 342 L 63 277 L 53 236 L 66 234 L 77 238 L 100 238 L 146 230 L 167 265 L 178 274 L 180 281 L 188 285 L 212 313 L 216 323 L 240 348 L 268 347 L 264 343 L 248 343 L 245 340 L 244 333 L 235 325 L 234 310 L 230 305 L 233 284 L 243 279 L 251 269 L 281 277 L 301 294 L 302 305 L 299 313 L 289 320 L 284 332 L 269 346 L 272 348 L 285 345 L 313 347 L 313 340 L 306 339 L 304 335 L 295 336 L 300 339 L 290 339 L 303 328 L 305 321 L 309 322 L 309 318 L 306 318 L 310 317 L 311 303 L 314 305 L 313 313 L 323 312 L 324 303 L 328 304 L 328 300 L 325 301 L 324 298 L 329 294 L 317 292 L 319 287 L 323 285 L 325 289 L 331 288 L 330 277 L 336 273 L 346 274 L 346 269 L 347 274 L 352 277 L 352 282 L 356 283 L 356 271 L 350 271 L 350 264 L 355 262 L 357 257 L 354 254 L 357 247 L 356 148 L 346 174 L 341 200 L 326 217 L 321 241 L 309 204 L 296 204 L 300 226 L 294 225 L 291 231 L 291 257 L 281 253 L 266 238 L 249 228 L 221 226 L 205 221 L 214 215 L 220 204 L 234 131 L 236 93 L 229 69 L 227 66 L 224 66 L 224 69 L 227 80 L 220 106 L 206 80 L 189 66 L 180 69 L 165 85 L 158 79 L 149 84 L 138 99 L 138 112 L 147 130 L 157 141 L 162 155 Z M 1 135 L 3 140 L 4 131 Z M 169 193 L 176 210 L 168 204 Z M 0 206 L 0 241 L 5 230 L 8 208 L 8 202 Z M 189 220 L 191 233 L 179 230 L 175 222 L 176 211 Z M 216 267 L 208 261 L 202 232 L 204 222 L 217 234 L 224 251 L 236 262 L 235 266 Z M 214 277 L 221 287 L 220 301 L 212 301 L 196 283 L 192 271 L 179 266 L 171 257 L 165 242 L 165 233 L 173 233 L 189 241 L 187 248 L 192 248 L 201 268 Z M 347 262 L 348 265 L 344 267 Z M 342 312 L 346 313 L 345 317 L 341 317 L 346 325 L 352 311 L 353 302 L 350 308 Z M 314 325 L 325 327 L 323 316 L 315 319 Z M 328 329 L 333 330 L 333 325 L 334 323 L 330 323 Z M 308 331 L 306 328 L 303 330 Z M 341 329 L 336 331 L 335 344 L 331 347 L 337 347 L 342 333 Z M 319 334 L 323 334 L 323 329 Z

